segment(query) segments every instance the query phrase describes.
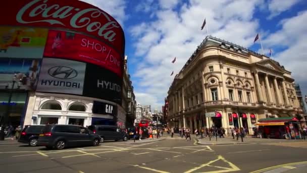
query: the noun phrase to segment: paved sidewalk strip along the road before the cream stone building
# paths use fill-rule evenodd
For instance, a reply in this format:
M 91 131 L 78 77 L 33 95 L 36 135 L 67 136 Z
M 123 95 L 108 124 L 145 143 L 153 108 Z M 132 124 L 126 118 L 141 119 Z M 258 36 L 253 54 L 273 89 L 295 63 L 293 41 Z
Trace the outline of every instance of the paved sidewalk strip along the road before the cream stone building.
M 200 145 L 232 145 L 232 144 L 266 144 L 266 143 L 286 143 L 286 142 L 306 142 L 307 140 L 286 140 L 286 139 L 266 139 L 266 138 L 243 138 L 243 142 L 241 142 L 241 138 L 237 141 L 236 139 L 232 139 L 232 137 L 219 138 L 216 141 L 216 138 L 209 137 L 198 139 L 198 144 Z

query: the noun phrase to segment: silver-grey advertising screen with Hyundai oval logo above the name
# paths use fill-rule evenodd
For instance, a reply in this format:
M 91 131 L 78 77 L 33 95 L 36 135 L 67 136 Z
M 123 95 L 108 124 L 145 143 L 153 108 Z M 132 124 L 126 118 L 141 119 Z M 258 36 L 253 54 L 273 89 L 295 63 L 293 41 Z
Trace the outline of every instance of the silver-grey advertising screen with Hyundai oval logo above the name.
M 82 95 L 86 63 L 43 58 L 38 92 Z

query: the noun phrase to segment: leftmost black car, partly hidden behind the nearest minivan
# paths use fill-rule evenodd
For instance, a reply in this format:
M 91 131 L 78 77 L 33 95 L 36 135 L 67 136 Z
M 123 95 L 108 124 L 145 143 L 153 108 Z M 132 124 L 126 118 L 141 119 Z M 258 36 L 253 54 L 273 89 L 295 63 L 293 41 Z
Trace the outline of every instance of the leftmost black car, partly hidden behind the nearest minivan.
M 44 125 L 26 125 L 21 131 L 18 142 L 36 146 L 37 139 Z

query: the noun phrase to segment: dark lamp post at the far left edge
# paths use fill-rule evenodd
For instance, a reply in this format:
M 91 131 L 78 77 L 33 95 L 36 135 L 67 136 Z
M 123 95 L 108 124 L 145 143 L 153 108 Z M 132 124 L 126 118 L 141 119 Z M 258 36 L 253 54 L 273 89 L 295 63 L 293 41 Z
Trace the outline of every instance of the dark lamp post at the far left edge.
M 6 112 L 4 114 L 4 117 L 2 118 L 3 119 L 3 125 L 2 126 L 2 129 L 0 131 L 0 141 L 4 141 L 5 139 L 5 134 L 4 134 L 4 129 L 6 126 L 9 125 L 9 116 L 10 116 L 10 112 L 11 112 L 11 101 L 12 101 L 12 96 L 13 96 L 13 91 L 14 91 L 14 86 L 15 86 L 15 83 L 17 81 L 17 74 L 14 74 L 14 77 L 12 79 L 12 88 L 9 90 L 9 100 L 8 100 L 8 104 L 7 104 L 7 109 L 6 109 Z M 1 124 L 1 125 L 2 125 Z

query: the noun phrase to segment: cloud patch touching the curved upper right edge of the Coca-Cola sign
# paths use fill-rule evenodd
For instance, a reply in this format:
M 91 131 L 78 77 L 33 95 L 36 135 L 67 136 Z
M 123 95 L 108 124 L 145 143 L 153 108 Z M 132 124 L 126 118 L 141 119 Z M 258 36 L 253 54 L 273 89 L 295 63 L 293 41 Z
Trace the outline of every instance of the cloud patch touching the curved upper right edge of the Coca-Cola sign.
M 127 19 L 125 14 L 126 3 L 124 0 L 112 0 L 112 1 L 101 1 L 101 0 L 81 0 L 88 4 L 94 5 L 101 10 L 109 13 L 114 17 L 122 26 L 124 21 Z

